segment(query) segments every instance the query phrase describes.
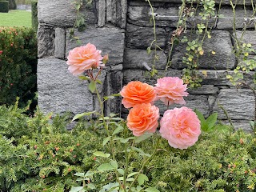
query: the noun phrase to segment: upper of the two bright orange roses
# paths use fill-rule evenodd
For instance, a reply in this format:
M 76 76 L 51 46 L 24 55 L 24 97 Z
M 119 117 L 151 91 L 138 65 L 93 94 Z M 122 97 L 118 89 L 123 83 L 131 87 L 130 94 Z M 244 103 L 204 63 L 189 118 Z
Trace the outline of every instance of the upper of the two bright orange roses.
M 143 82 L 129 82 L 120 92 L 122 104 L 126 108 L 136 104 L 154 102 L 156 94 L 154 87 Z

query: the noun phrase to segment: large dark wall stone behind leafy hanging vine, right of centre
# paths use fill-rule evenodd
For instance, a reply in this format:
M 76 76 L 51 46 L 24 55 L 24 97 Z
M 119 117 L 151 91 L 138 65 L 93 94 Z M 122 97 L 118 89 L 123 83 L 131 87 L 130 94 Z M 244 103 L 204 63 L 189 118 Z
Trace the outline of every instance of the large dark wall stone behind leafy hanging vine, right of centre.
M 188 31 L 187 34 L 189 33 Z M 212 70 L 233 69 L 236 61 L 232 50 L 230 33 L 224 30 L 213 30 L 211 36 L 212 38 L 206 38 L 203 42 L 202 50 L 204 50 L 204 54 L 198 59 L 199 68 Z M 182 69 L 186 67 L 182 63 L 186 46 L 186 43 L 180 43 L 175 48 L 172 56 L 172 68 Z M 211 51 L 214 51 L 215 54 L 211 54 Z

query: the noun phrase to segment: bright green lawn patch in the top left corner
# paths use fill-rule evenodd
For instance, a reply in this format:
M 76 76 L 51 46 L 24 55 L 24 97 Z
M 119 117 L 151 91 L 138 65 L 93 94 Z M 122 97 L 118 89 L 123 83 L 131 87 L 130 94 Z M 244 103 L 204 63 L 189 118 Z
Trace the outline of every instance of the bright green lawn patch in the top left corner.
M 9 13 L 0 13 L 0 18 L 0 26 L 32 26 L 30 11 L 9 10 Z

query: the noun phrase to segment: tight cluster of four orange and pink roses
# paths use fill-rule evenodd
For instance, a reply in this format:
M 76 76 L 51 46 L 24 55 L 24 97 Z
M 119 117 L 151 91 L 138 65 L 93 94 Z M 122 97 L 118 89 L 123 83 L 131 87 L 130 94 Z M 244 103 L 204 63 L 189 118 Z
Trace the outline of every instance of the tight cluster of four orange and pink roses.
M 154 133 L 158 128 L 159 109 L 154 102 L 161 100 L 166 106 L 186 104 L 186 85 L 180 78 L 158 78 L 155 86 L 143 82 L 129 82 L 120 92 L 122 104 L 131 108 L 127 117 L 127 126 L 135 136 L 146 132 Z M 201 134 L 200 121 L 193 110 L 182 106 L 166 110 L 160 121 L 162 138 L 166 138 L 174 148 L 186 149 L 198 141 Z

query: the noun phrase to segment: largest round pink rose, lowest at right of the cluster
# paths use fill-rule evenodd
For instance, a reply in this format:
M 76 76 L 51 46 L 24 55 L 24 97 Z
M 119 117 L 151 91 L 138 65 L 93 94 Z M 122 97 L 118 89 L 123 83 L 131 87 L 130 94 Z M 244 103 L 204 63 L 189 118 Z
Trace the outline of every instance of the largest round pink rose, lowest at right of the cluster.
M 166 110 L 160 121 L 159 132 L 170 146 L 183 150 L 198 141 L 200 121 L 194 111 L 186 106 Z

